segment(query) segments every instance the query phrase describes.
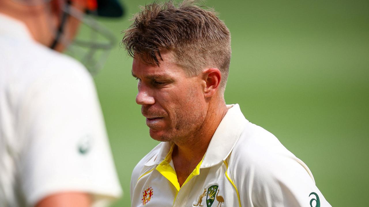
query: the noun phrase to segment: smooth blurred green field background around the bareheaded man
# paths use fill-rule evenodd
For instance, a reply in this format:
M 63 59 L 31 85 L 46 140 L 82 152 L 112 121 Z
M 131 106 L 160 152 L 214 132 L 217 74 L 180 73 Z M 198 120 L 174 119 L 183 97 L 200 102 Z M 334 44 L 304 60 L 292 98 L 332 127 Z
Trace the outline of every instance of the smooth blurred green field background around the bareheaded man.
M 132 59 L 119 47 L 139 5 L 120 20 L 99 19 L 117 37 L 95 77 L 124 196 L 135 164 L 155 145 L 135 103 Z M 334 207 L 369 206 L 369 1 L 208 0 L 232 34 L 228 104 L 303 160 Z M 81 32 L 83 34 L 83 30 Z

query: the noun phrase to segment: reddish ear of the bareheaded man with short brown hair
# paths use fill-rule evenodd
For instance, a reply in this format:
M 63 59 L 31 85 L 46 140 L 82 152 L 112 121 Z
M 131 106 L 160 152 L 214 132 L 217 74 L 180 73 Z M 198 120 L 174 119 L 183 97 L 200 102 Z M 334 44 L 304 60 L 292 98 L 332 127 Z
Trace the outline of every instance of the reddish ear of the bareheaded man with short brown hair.
M 203 80 L 206 85 L 204 86 L 204 97 L 212 97 L 218 90 L 222 74 L 217 68 L 210 68 L 203 71 Z

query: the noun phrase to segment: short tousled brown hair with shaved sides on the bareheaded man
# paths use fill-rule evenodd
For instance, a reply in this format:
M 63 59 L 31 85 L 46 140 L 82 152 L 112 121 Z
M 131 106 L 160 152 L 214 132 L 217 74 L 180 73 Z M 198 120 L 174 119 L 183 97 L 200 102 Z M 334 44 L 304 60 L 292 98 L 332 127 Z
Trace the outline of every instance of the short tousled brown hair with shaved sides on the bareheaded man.
M 184 0 L 154 2 L 141 7 L 131 26 L 123 31 L 122 43 L 132 57 L 138 55 L 147 64 L 159 66 L 161 50 L 173 51 L 176 64 L 188 76 L 198 75 L 206 67 L 222 73 L 224 91 L 231 59 L 231 34 L 214 10 Z

